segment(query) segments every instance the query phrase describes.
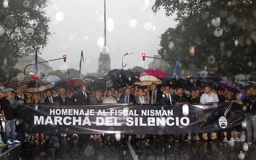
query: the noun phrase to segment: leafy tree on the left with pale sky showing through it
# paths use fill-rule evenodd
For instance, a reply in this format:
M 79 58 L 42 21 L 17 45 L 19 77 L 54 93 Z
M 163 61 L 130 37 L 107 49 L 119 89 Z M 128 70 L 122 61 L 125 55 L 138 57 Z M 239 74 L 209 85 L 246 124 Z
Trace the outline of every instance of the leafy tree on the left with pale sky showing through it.
M 50 17 L 45 12 L 48 3 L 48 0 L 0 2 L 1 81 L 4 75 L 8 79 L 17 75 L 13 69 L 17 59 L 35 52 L 41 54 L 47 45 L 52 35 L 48 31 Z

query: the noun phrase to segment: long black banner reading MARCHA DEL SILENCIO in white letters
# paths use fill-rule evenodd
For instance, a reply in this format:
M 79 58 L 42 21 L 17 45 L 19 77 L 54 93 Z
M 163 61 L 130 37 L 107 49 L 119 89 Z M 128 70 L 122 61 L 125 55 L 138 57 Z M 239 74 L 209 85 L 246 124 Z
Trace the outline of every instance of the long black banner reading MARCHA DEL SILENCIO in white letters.
M 26 133 L 175 134 L 240 131 L 244 110 L 231 103 L 24 104 L 16 124 Z

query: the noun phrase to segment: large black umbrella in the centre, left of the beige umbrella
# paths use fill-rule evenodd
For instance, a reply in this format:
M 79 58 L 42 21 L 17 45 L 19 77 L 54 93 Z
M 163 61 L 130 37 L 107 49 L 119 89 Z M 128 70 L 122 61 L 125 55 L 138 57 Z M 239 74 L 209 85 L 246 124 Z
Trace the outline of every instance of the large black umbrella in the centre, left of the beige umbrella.
M 132 71 L 126 69 L 113 69 L 109 71 L 106 75 L 102 76 L 105 80 L 115 80 L 119 84 L 140 82 L 138 76 L 136 76 Z

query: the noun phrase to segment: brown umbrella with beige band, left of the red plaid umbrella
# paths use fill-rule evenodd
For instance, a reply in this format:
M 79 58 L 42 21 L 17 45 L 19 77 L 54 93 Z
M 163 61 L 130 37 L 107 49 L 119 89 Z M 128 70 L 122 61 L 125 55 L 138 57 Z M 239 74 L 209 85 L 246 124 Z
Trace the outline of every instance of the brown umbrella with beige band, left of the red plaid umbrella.
M 53 87 L 54 86 L 47 80 L 44 80 L 44 79 L 33 80 L 32 82 L 29 82 L 24 92 L 30 92 L 30 93 L 42 92 Z

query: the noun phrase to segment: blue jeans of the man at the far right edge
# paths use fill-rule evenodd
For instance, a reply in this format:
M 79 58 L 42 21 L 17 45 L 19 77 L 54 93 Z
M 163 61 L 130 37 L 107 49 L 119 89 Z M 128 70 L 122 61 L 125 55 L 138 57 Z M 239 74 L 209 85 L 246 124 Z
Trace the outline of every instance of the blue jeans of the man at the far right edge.
M 256 140 L 256 115 L 255 116 L 245 115 L 244 121 L 246 122 L 247 139 L 250 142 L 252 142 L 252 132 L 253 132 L 253 140 Z

